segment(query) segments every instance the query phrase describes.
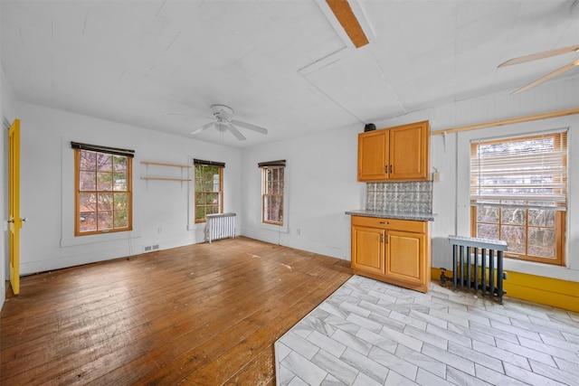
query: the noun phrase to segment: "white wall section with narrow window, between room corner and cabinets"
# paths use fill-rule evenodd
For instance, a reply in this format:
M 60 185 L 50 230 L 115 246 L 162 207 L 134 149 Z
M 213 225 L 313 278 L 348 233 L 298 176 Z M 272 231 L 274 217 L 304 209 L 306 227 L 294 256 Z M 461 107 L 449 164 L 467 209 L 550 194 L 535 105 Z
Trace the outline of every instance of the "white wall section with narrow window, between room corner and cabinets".
M 243 150 L 243 233 L 249 237 L 350 259 L 350 216 L 364 206 L 365 184 L 356 182 L 361 127 Z M 284 227 L 261 224 L 259 162 L 285 159 L 288 198 Z

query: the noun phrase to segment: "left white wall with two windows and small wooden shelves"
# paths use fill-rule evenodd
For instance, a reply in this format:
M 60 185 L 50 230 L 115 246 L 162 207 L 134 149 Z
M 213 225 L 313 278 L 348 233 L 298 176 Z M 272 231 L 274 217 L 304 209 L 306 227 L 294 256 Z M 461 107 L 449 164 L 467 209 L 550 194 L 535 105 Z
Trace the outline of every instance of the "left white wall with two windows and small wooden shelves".
M 17 102 L 15 112 L 21 119 L 21 215 L 28 218 L 21 232 L 24 275 L 139 254 L 152 244 L 168 249 L 203 242 L 204 224 L 192 221 L 192 183 L 142 180 L 147 173 L 178 177 L 181 169 L 146 166 L 141 161 L 192 165 L 195 157 L 224 162 L 223 209 L 240 213 L 238 221 L 242 221 L 238 149 L 28 103 Z M 133 231 L 74 237 L 71 141 L 136 151 Z

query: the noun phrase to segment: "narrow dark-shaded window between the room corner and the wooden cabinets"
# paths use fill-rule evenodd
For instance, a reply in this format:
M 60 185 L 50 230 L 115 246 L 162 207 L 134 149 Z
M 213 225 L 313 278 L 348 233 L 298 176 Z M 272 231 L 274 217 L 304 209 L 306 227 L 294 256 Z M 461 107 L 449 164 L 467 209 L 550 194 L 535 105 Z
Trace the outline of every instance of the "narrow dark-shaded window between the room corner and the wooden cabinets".
M 262 162 L 261 222 L 283 225 L 285 160 Z

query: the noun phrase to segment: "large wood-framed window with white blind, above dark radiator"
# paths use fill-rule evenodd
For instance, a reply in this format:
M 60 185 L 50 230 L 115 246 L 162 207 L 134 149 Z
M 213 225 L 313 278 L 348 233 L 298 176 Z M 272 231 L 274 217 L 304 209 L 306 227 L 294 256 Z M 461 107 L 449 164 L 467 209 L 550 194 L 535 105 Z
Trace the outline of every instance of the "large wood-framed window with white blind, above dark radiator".
M 567 133 L 472 142 L 471 234 L 506 257 L 564 264 Z

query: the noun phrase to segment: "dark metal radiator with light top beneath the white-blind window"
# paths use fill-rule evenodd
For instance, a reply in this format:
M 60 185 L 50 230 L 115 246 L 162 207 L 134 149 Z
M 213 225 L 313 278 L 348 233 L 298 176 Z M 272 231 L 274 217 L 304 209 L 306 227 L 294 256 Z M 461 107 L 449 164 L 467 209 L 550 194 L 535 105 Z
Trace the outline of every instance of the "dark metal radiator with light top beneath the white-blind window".
M 458 287 L 481 293 L 503 303 L 503 280 L 507 277 L 503 272 L 503 252 L 507 250 L 507 242 L 502 240 L 487 240 L 473 237 L 449 236 L 452 245 L 452 283 L 454 291 Z M 441 286 L 447 278 L 445 268 L 441 268 Z

